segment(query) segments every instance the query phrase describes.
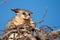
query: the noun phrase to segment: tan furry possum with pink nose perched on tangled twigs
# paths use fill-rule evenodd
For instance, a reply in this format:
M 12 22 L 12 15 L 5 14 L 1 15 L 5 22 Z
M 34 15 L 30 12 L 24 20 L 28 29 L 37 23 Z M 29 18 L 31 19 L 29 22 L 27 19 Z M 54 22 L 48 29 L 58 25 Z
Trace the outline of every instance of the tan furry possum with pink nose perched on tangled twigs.
M 24 9 L 19 9 L 19 8 L 12 8 L 12 11 L 16 13 L 15 17 L 11 19 L 7 24 L 6 24 L 6 29 L 10 28 L 16 28 L 20 24 L 31 24 L 31 26 L 35 27 L 32 18 L 30 17 L 31 12 L 28 10 Z

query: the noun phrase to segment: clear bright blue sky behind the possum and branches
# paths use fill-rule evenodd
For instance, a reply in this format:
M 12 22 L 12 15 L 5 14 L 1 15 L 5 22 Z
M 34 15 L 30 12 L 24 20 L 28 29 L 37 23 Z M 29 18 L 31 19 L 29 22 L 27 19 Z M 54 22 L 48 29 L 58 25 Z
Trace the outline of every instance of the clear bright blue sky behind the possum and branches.
M 38 22 L 45 13 L 46 7 L 48 12 L 43 24 L 59 26 L 60 0 L 8 0 L 7 3 L 0 4 L 0 30 L 4 29 L 6 23 L 15 16 L 11 8 L 22 8 L 33 12 L 31 17 L 34 22 Z

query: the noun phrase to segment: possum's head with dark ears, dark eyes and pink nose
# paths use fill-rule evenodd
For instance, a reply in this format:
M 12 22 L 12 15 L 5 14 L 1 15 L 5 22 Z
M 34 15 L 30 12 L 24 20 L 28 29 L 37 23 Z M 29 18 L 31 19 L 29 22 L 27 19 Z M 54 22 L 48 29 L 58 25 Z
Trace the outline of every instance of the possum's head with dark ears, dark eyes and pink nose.
M 19 15 L 20 17 L 22 17 L 25 20 L 30 19 L 31 12 L 28 10 L 18 9 L 18 8 L 12 8 L 11 10 L 14 11 L 16 13 L 16 15 Z

